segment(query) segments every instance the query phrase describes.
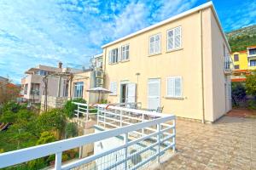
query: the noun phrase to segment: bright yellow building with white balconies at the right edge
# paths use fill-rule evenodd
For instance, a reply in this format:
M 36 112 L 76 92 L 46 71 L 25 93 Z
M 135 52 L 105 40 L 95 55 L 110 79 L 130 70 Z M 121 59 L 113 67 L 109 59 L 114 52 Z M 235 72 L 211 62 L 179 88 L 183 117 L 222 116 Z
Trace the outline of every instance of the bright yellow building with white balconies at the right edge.
M 232 82 L 245 82 L 246 76 L 256 70 L 256 46 L 249 46 L 245 51 L 232 54 L 235 70 L 232 73 Z

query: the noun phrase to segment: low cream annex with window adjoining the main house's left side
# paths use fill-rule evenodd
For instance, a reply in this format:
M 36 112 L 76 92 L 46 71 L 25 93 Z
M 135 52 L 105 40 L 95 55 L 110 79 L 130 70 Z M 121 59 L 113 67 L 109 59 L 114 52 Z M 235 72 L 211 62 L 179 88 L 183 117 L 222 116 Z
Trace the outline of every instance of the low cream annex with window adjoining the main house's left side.
M 88 93 L 87 90 L 103 85 L 102 54 L 92 57 L 91 66 L 91 69 L 73 74 L 72 85 L 69 89 L 71 90 L 69 91 L 70 98 L 85 99 L 90 104 L 98 101 L 98 94 Z

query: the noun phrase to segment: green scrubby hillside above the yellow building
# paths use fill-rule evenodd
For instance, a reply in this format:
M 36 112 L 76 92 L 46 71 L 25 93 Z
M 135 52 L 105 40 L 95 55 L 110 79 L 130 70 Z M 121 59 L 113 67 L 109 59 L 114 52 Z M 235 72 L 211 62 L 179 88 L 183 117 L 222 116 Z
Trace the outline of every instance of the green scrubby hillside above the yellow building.
M 256 45 L 256 25 L 226 33 L 232 52 L 246 50 L 247 46 Z

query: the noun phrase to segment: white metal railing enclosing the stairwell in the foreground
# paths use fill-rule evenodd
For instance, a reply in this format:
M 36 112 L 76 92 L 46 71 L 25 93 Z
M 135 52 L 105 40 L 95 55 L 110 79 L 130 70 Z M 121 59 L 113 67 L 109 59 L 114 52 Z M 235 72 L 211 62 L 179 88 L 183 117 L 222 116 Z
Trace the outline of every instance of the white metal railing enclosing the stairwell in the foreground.
M 154 166 L 162 157 L 172 156 L 176 146 L 175 116 L 112 105 L 98 105 L 97 109 L 96 127 L 102 128 L 101 132 L 3 153 L 0 168 L 55 154 L 57 170 L 142 169 Z M 112 144 L 111 139 L 118 139 L 119 144 Z M 112 147 L 96 151 L 104 141 Z M 94 144 L 94 155 L 61 162 L 63 151 L 84 144 Z

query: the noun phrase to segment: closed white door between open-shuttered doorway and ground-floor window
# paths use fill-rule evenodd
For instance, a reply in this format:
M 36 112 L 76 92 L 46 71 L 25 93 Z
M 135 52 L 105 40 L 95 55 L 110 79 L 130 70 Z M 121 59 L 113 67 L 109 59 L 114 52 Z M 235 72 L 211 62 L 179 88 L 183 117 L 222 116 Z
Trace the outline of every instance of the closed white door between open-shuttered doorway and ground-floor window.
M 148 109 L 160 107 L 160 78 L 148 79 Z

